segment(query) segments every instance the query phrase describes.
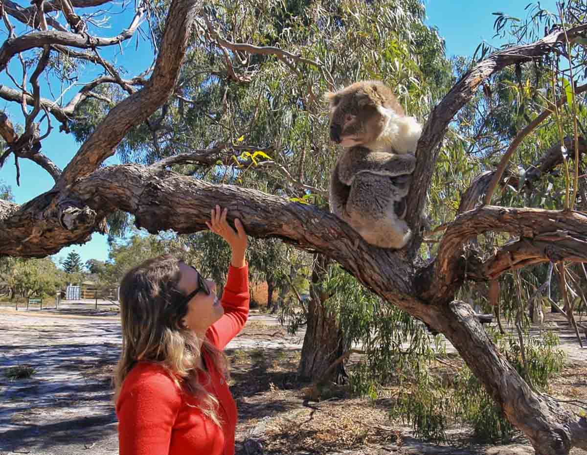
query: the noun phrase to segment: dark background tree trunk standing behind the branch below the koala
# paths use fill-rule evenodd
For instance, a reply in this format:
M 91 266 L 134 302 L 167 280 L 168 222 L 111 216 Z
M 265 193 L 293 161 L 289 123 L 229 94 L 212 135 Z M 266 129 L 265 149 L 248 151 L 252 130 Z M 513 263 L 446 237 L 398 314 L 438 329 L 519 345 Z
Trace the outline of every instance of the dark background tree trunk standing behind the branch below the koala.
M 344 362 L 340 362 L 327 378 L 323 378 L 329 366 L 349 348 L 345 345 L 335 315 L 330 314 L 326 309 L 325 301 L 329 296 L 319 289 L 319 283 L 327 265 L 328 259 L 322 254 L 316 255 L 310 290 L 312 298 L 308 304 L 308 324 L 303 339 L 298 374 L 303 379 L 333 379 L 340 383 L 346 378 Z

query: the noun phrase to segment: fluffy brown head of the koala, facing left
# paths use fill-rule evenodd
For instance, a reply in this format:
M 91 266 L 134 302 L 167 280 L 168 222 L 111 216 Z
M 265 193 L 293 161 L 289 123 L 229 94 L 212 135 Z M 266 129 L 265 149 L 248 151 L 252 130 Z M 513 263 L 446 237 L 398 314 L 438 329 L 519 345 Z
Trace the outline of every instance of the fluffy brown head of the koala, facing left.
M 372 143 L 383 132 L 390 114 L 404 116 L 392 90 L 377 80 L 355 82 L 325 97 L 329 102 L 330 140 L 343 147 Z

